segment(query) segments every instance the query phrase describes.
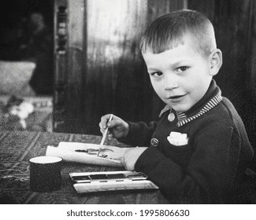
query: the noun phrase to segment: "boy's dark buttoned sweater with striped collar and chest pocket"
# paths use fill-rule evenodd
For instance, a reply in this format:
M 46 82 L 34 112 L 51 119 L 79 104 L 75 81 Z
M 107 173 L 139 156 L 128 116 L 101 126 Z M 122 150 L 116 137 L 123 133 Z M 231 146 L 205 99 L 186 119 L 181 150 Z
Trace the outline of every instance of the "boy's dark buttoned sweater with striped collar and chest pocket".
M 172 122 L 170 112 L 176 116 Z M 135 170 L 147 174 L 170 202 L 244 203 L 243 175 L 254 151 L 236 109 L 214 80 L 188 112 L 166 106 L 158 123 L 128 123 L 128 137 L 121 141 L 149 147 Z M 171 131 L 187 134 L 188 144 L 170 144 Z M 158 143 L 150 145 L 152 138 Z

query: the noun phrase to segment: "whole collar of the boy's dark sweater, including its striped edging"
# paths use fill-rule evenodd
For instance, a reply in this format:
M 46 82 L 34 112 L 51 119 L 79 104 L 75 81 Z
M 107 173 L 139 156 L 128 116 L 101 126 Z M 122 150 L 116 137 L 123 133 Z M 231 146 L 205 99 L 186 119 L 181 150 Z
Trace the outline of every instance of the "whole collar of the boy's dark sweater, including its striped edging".
M 206 112 L 210 111 L 210 109 L 218 105 L 221 100 L 221 90 L 216 85 L 215 81 L 212 80 L 209 89 L 200 101 L 198 101 L 187 112 L 176 112 L 176 116 L 178 118 L 177 127 L 181 127 L 199 116 L 204 115 Z M 161 110 L 159 117 L 161 117 L 165 112 L 172 112 L 172 110 L 173 108 L 170 105 L 165 105 L 165 108 Z

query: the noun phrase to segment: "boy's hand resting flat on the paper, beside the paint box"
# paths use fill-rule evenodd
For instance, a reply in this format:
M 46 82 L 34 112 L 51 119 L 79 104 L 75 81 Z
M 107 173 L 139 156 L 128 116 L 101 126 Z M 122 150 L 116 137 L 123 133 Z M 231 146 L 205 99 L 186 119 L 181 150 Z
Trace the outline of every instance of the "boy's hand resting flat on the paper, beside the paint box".
M 147 147 L 136 147 L 127 149 L 121 159 L 121 164 L 124 165 L 126 170 L 135 170 L 135 163 L 137 159 L 146 149 Z

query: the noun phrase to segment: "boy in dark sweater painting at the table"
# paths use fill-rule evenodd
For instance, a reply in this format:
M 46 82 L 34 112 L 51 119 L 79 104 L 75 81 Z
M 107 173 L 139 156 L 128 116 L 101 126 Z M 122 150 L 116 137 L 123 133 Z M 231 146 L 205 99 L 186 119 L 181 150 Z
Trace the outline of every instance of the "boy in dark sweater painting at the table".
M 121 163 L 147 174 L 172 203 L 248 202 L 241 197 L 243 175 L 254 151 L 236 109 L 213 80 L 222 55 L 210 20 L 191 10 L 166 14 L 150 25 L 140 47 L 166 106 L 150 125 L 102 116 L 102 132 L 109 127 L 113 138 L 139 146 Z

